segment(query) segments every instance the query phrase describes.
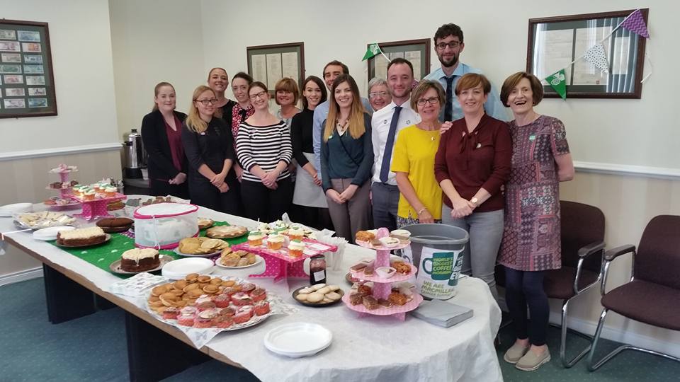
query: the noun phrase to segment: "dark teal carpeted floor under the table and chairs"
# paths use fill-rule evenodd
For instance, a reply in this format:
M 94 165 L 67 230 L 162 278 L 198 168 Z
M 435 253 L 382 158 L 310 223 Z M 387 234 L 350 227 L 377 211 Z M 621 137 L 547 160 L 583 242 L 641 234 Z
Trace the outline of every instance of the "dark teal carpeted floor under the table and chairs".
M 125 323 L 120 308 L 98 311 L 67 323 L 47 321 L 42 279 L 0 287 L 0 381 L 129 381 Z M 639 352 L 623 352 L 594 373 L 585 361 L 563 369 L 559 360 L 560 331 L 550 328 L 548 346 L 553 360 L 538 371 L 525 372 L 502 360 L 513 341 L 501 330 L 499 359 L 504 380 L 521 381 L 680 381 L 680 363 Z M 598 354 L 618 346 L 603 340 Z M 567 354 L 587 340 L 569 335 Z M 257 381 L 248 371 L 219 361 L 194 366 L 164 381 Z

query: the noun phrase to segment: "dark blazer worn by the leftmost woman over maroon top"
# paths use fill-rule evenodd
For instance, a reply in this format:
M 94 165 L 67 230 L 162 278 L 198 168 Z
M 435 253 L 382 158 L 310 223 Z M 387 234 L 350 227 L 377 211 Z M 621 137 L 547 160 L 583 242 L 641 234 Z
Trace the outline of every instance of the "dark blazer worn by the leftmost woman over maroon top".
M 173 111 L 180 122 L 186 120 L 186 114 Z M 181 129 L 181 127 L 179 127 Z M 165 132 L 165 120 L 159 110 L 149 112 L 142 119 L 142 141 L 147 151 L 147 166 L 150 179 L 170 180 L 180 172 L 172 164 L 172 153 Z M 186 173 L 188 163 L 186 155 L 182 158 L 182 171 Z

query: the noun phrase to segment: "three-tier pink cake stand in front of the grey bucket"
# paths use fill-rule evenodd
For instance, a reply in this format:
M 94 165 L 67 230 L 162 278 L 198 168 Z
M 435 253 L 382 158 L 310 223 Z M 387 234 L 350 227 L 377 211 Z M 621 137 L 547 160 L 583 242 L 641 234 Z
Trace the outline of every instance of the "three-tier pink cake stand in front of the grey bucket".
M 378 230 L 378 235 L 376 235 L 376 238 L 384 238 L 390 236 L 390 231 L 387 230 L 387 228 L 380 228 Z M 370 248 L 375 250 L 376 255 L 375 255 L 375 268 L 378 267 L 389 267 L 390 266 L 390 251 L 392 250 L 399 250 L 402 248 L 406 248 L 411 243 L 402 243 L 399 244 L 395 247 L 392 248 L 373 248 L 370 243 L 365 242 L 365 241 L 357 241 L 358 245 L 361 245 L 363 248 Z M 392 293 L 392 283 L 395 282 L 404 282 L 410 279 L 411 277 L 416 274 L 417 268 L 414 267 L 413 265 L 410 265 L 411 267 L 411 272 L 409 274 L 401 274 L 397 273 L 394 276 L 384 279 L 378 274 L 373 274 L 372 276 L 366 276 L 363 273 L 363 270 L 359 272 L 354 272 L 353 270 L 350 269 L 350 272 L 352 274 L 352 277 L 355 279 L 361 279 L 365 282 L 373 282 L 373 297 L 375 299 L 387 299 L 388 296 L 390 296 L 390 293 Z M 349 296 L 350 294 L 345 294 L 342 296 L 342 301 L 345 303 L 345 305 L 350 308 L 353 311 L 356 311 L 359 313 L 359 317 L 365 317 L 365 316 L 394 316 L 395 318 L 398 318 L 399 320 L 404 320 L 406 318 L 406 313 L 415 310 L 415 308 L 418 308 L 421 302 L 423 302 L 423 296 L 417 294 L 414 292 L 413 294 L 413 299 L 407 303 L 405 303 L 402 306 L 390 306 L 389 308 L 383 308 L 379 307 L 373 310 L 367 309 L 363 304 L 358 304 L 358 305 L 352 305 L 349 301 Z

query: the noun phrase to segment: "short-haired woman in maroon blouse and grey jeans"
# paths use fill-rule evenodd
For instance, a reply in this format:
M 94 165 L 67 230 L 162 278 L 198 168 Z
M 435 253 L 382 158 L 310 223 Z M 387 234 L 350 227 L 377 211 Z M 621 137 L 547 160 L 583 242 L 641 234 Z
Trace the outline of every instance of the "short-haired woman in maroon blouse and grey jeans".
M 434 173 L 444 192 L 443 224 L 465 229 L 462 272 L 483 279 L 494 298 L 494 267 L 503 236 L 501 186 L 510 176 L 512 142 L 506 122 L 489 117 L 484 103 L 491 83 L 481 74 L 465 74 L 455 86 L 463 118 L 444 122 Z

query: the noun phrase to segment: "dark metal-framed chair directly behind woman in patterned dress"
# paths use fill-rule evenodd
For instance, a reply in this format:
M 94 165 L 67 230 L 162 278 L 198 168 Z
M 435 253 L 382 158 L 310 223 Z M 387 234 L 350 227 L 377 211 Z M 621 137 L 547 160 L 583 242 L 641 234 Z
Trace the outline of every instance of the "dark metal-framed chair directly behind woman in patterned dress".
M 560 201 L 560 229 L 562 237 L 562 268 L 545 272 L 545 294 L 549 299 L 562 300 L 560 361 L 565 368 L 574 366 L 588 354 L 591 345 L 576 357 L 567 359 L 567 330 L 591 340 L 591 336 L 568 329 L 569 303 L 600 282 L 604 253 L 604 214 L 597 207 L 577 202 Z M 505 271 L 498 265 L 497 284 L 505 286 Z

